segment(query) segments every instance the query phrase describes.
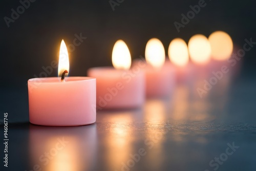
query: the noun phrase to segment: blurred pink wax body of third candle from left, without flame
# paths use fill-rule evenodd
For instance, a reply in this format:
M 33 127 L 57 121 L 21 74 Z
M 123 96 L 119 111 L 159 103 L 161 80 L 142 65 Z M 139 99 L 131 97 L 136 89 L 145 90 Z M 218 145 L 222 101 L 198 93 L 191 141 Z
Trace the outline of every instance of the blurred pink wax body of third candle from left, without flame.
M 145 61 L 135 61 L 133 66 Z M 141 64 L 140 64 L 141 65 Z M 142 65 L 141 65 L 142 66 Z M 149 64 L 142 68 L 146 76 L 147 97 L 169 97 L 175 86 L 175 70 L 166 61 L 160 69 L 155 69 Z

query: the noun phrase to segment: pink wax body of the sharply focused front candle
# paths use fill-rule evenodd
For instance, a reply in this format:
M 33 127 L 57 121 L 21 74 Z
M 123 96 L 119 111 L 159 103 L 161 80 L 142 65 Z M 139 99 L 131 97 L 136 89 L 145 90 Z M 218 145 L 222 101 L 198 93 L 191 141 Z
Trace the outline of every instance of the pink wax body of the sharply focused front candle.
M 90 77 L 28 80 L 29 121 L 48 126 L 76 126 L 96 121 L 96 79 Z

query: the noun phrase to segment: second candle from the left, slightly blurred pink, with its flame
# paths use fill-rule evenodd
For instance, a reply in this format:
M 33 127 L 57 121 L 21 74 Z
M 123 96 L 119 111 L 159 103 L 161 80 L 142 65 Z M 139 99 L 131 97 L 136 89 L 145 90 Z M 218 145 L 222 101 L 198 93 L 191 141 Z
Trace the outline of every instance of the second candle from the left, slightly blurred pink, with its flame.
M 97 79 L 97 109 L 138 108 L 144 103 L 144 73 L 131 67 L 131 54 L 123 40 L 117 40 L 113 52 L 113 67 L 88 70 Z

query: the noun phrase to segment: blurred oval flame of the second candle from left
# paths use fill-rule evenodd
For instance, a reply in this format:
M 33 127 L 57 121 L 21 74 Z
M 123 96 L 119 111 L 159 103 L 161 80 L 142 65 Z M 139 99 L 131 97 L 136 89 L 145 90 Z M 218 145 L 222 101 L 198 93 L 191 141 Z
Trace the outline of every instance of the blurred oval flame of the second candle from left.
M 129 70 L 131 67 L 131 54 L 123 40 L 117 40 L 114 45 L 112 63 L 115 69 Z

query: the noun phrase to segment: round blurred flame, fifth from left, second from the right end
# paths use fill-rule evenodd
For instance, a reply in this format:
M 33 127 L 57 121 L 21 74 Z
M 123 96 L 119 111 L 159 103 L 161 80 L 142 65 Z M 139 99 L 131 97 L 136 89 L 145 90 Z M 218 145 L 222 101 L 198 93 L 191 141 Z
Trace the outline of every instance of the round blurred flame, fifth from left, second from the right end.
M 209 40 L 202 34 L 192 36 L 188 41 L 188 52 L 193 62 L 207 63 L 211 55 Z

